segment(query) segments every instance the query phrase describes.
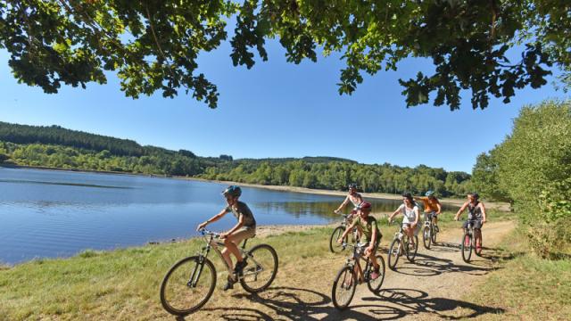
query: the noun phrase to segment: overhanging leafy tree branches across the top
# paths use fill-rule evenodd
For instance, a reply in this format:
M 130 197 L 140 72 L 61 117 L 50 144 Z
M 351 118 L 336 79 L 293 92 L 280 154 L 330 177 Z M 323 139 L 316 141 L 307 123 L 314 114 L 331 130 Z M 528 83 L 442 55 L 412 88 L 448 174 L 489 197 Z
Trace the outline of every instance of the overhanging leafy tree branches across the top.
M 196 58 L 230 39 L 234 65 L 254 65 L 255 50 L 277 37 L 287 62 L 317 61 L 318 52 L 341 53 L 338 91 L 351 95 L 364 72 L 397 70 L 408 57 L 427 58 L 434 73 L 401 79 L 407 106 L 446 103 L 458 109 L 460 91 L 472 107 L 490 96 L 509 103 L 515 89 L 538 88 L 556 63 L 571 83 L 571 8 L 563 0 L 7 0 L 0 2 L 0 48 L 14 76 L 57 93 L 62 84 L 103 84 L 116 71 L 130 97 L 161 91 L 191 93 L 211 108 L 218 89 Z M 509 49 L 521 61 L 509 62 Z

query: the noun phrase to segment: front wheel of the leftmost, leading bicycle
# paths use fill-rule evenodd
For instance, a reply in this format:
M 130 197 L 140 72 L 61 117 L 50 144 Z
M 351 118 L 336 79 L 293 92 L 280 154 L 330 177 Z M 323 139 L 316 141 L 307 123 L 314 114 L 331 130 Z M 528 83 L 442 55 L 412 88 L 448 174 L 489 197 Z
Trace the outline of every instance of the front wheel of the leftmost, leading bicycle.
M 211 298 L 215 285 L 216 269 L 210 259 L 198 256 L 181 259 L 162 280 L 162 307 L 175 316 L 185 316 Z

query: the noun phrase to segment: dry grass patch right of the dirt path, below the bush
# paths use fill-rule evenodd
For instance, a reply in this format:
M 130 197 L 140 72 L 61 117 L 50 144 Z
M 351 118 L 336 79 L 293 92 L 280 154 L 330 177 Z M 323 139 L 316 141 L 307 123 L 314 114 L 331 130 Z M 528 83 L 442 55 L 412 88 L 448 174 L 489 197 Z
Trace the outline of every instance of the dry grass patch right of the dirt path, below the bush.
M 499 271 L 466 298 L 501 307 L 495 319 L 571 319 L 571 259 L 541 259 L 529 252 L 525 235 L 515 230 L 501 243 Z M 491 316 L 486 316 L 491 317 Z

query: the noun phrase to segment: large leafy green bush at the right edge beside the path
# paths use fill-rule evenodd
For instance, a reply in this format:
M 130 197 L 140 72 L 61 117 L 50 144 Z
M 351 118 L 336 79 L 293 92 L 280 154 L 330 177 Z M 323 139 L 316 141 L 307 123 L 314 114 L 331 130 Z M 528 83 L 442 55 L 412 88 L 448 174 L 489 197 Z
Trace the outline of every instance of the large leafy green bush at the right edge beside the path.
M 472 183 L 511 202 L 535 252 L 571 254 L 571 102 L 524 107 L 501 144 L 478 156 Z

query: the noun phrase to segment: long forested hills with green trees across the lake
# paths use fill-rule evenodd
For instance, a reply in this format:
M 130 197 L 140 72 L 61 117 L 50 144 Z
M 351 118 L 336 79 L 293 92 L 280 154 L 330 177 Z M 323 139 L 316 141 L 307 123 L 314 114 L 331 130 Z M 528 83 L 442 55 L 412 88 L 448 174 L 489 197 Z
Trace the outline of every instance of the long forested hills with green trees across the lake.
M 62 169 L 108 170 L 166 176 L 201 177 L 262 185 L 345 189 L 357 183 L 363 192 L 462 195 L 470 176 L 420 165 L 360 164 L 335 157 L 240 159 L 222 154 L 141 146 L 128 139 L 89 134 L 59 126 L 38 127 L 0 122 L 0 161 Z

